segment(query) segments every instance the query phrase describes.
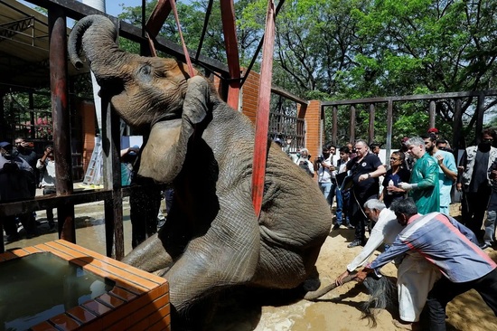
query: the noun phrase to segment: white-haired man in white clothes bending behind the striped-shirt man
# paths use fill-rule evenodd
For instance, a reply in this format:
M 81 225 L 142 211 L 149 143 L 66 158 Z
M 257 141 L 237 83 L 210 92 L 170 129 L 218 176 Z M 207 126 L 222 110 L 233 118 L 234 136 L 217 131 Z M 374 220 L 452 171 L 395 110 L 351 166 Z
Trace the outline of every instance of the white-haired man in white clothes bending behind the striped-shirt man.
M 370 238 L 354 260 L 347 266 L 335 283 L 342 285 L 342 280 L 352 271 L 366 264 L 370 256 L 382 243 L 390 245 L 395 241 L 404 227 L 397 222 L 395 213 L 385 208 L 385 204 L 377 199 L 364 203 L 364 211 L 372 222 L 376 222 L 370 232 Z M 394 321 L 398 327 L 413 329 L 417 327 L 419 316 L 427 301 L 427 295 L 433 284 L 440 278 L 440 271 L 434 268 L 421 255 L 409 251 L 397 270 L 397 288 L 399 291 L 399 317 Z

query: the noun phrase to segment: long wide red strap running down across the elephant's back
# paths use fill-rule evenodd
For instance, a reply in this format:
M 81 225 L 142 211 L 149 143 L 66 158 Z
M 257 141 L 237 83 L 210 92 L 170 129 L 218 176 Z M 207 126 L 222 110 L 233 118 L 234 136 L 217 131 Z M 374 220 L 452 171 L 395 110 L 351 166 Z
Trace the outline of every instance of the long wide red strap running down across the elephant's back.
M 259 217 L 264 194 L 264 179 L 267 160 L 267 131 L 269 128 L 269 101 L 271 99 L 271 79 L 273 76 L 273 49 L 275 44 L 275 3 L 267 3 L 266 32 L 262 49 L 260 69 L 258 114 L 256 118 L 256 140 L 254 143 L 254 163 L 252 165 L 252 203 Z

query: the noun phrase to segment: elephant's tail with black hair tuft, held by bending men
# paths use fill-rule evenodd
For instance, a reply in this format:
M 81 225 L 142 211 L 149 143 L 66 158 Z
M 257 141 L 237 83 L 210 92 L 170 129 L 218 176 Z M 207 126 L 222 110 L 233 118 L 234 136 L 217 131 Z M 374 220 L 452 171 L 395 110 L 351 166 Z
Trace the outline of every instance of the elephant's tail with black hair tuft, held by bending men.
M 342 280 L 342 283 L 344 284 L 355 279 L 356 274 L 357 272 L 351 273 Z M 383 276 L 379 278 L 374 274 L 368 274 L 368 277 L 364 279 L 362 284 L 366 287 L 370 298 L 360 307 L 362 313 L 361 319 L 367 318 L 371 327 L 376 327 L 376 315 L 380 311 L 379 309 L 397 308 L 399 306 L 397 286 L 387 277 Z M 324 288 L 307 292 L 304 298 L 309 301 L 316 301 L 334 288 L 337 288 L 337 285 L 333 282 Z

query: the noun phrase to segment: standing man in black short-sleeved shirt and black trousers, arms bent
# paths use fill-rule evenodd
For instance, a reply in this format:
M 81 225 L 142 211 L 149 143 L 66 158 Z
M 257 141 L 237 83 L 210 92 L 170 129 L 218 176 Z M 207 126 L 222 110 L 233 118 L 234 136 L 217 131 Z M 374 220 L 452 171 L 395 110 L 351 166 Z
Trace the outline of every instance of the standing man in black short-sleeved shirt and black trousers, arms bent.
M 362 206 L 370 199 L 378 198 L 380 191 L 379 179 L 387 173 L 385 165 L 381 164 L 380 158 L 369 153 L 368 144 L 364 140 L 355 143 L 357 156 L 347 163 L 347 170 L 351 171 L 353 178 L 351 207 L 352 225 L 355 226 L 355 238 L 347 246 L 349 248 L 364 245 L 366 242 L 366 222 L 368 217 L 362 210 Z

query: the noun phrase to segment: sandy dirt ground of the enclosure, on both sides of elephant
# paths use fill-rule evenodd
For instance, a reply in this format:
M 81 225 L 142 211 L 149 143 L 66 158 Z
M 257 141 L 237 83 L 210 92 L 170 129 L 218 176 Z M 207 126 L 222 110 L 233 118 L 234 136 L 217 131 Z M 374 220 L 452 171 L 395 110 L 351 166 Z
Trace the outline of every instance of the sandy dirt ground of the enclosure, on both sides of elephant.
M 6 245 L 6 249 L 32 246 L 44 241 L 57 239 L 56 233 L 49 233 L 44 222 L 44 211 L 38 212 L 38 219 L 42 221 L 40 230 L 42 235 L 31 240 L 16 241 Z M 454 204 L 451 214 L 458 216 L 459 204 Z M 75 210 L 77 221 L 77 243 L 93 251 L 105 254 L 105 232 L 103 222 L 103 204 L 91 203 L 80 205 Z M 124 203 L 125 215 L 125 242 L 126 252 L 131 250 L 129 206 Z M 47 229 L 45 229 L 47 228 Z M 361 247 L 347 248 L 352 241 L 353 230 L 340 229 L 333 231 L 324 242 L 317 269 L 322 279 L 322 286 L 328 285 L 336 279 L 346 265 L 361 251 Z M 497 260 L 497 251 L 492 248 L 487 252 L 493 260 Z M 376 253 L 378 255 L 379 253 Z M 389 263 L 382 269 L 388 276 L 395 277 L 396 268 Z M 332 330 L 332 331 L 361 331 L 370 330 L 367 320 L 361 319 L 359 306 L 368 296 L 361 285 L 350 282 L 341 288 L 335 288 L 317 302 L 309 302 L 294 298 L 284 298 L 281 293 L 261 294 L 251 290 L 251 297 L 265 298 L 254 304 L 253 300 L 242 296 L 230 295 L 224 306 L 221 306 L 213 317 L 210 330 L 213 331 L 304 331 L 304 330 Z M 241 299 L 240 299 L 241 298 Z M 394 309 L 396 310 L 396 309 Z M 461 295 L 447 307 L 447 329 L 450 331 L 495 331 L 497 317 L 487 307 L 482 298 L 475 291 Z M 392 320 L 398 318 L 397 311 L 382 310 L 377 317 L 376 330 L 398 330 Z

